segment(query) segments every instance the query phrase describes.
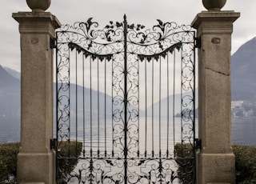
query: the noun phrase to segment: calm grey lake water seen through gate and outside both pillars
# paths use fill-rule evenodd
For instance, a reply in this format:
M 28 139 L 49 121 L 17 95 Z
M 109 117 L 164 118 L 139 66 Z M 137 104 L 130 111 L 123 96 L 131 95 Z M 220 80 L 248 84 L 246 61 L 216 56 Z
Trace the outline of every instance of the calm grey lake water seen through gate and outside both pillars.
M 182 138 L 181 137 L 182 124 L 180 122 L 180 118 L 175 118 L 174 124 L 172 123 L 169 124 L 169 130 L 167 129 L 168 123 L 166 123 L 166 118 L 162 118 L 161 129 L 159 129 L 159 124 L 157 122 L 158 122 L 158 118 L 154 121 L 154 138 L 152 138 L 152 133 L 153 133 L 152 128 L 146 131 L 145 119 L 140 122 L 140 126 L 138 128 L 139 131 L 141 132 L 141 136 L 139 137 L 140 141 L 138 143 L 138 146 L 132 147 L 132 150 L 140 150 L 141 153 L 143 153 L 143 151 L 145 150 L 148 150 L 148 152 L 150 153 L 150 151 L 154 147 L 155 153 L 158 153 L 160 148 L 161 150 L 169 149 L 170 153 L 172 153 L 174 144 L 177 142 L 180 142 Z M 147 120 L 147 125 L 149 127 L 152 127 L 152 121 L 150 119 Z M 85 142 L 84 148 L 87 154 L 89 153 L 89 150 L 90 150 L 90 132 L 92 132 L 91 134 L 93 138 L 92 146 L 94 148 L 94 153 L 96 153 L 96 151 L 98 150 L 98 147 L 100 147 L 100 150 L 103 153 L 106 147 L 108 154 L 110 154 L 112 150 L 112 145 L 113 145 L 112 144 L 113 137 L 112 137 L 112 134 L 110 134 L 112 132 L 112 128 L 111 126 L 107 127 L 106 129 L 107 134 L 105 136 L 105 133 L 104 133 L 105 130 L 102 127 L 103 126 L 101 124 L 99 129 L 100 136 L 98 136 L 97 123 L 96 124 L 94 123 L 91 131 L 90 131 L 90 128 L 86 128 L 85 132 L 83 132 L 82 126 L 78 127 L 78 130 L 79 130 L 78 141 Z M 130 127 L 130 128 L 131 128 L 130 130 L 133 129 L 133 127 Z M 72 131 L 72 134 L 74 134 L 74 130 L 71 130 L 71 131 Z M 173 132 L 175 132 L 175 136 Z M 232 139 L 235 145 L 256 146 L 255 132 L 256 132 L 256 118 L 233 118 L 232 119 Z M 86 133 L 86 136 L 83 136 L 83 133 Z M 167 136 L 167 134 L 169 134 L 169 137 Z M 136 133 L 134 135 L 135 135 L 135 138 L 137 139 L 138 135 Z M 19 137 L 20 137 L 20 130 L 17 127 L 12 127 L 12 129 L 10 128 L 0 129 L 1 143 L 18 142 Z M 74 136 L 72 138 L 74 139 Z M 106 139 L 106 144 L 105 144 L 105 139 Z M 159 142 L 160 139 L 162 140 L 161 142 Z M 100 142 L 98 142 L 98 140 L 100 140 Z M 154 145 L 153 145 L 153 142 L 154 142 Z M 167 142 L 169 142 L 168 148 L 166 146 Z M 118 141 L 116 143 L 119 146 L 122 144 L 122 142 L 118 142 Z M 118 149 L 118 148 L 114 148 L 114 149 Z M 135 162 L 135 161 L 132 161 L 132 162 Z M 86 166 L 87 164 L 88 162 L 86 162 L 86 160 L 82 160 L 81 162 L 79 162 L 76 170 L 79 170 L 79 168 L 81 168 L 82 165 Z M 122 164 L 122 163 L 119 163 L 119 164 Z M 168 166 L 170 166 L 171 164 L 174 164 L 174 162 L 167 163 Z M 149 164 L 148 166 L 151 167 L 152 164 L 151 165 Z M 149 167 L 145 167 L 144 168 L 145 171 L 143 172 L 146 172 L 148 168 Z M 86 175 L 84 174 L 84 176 Z M 74 178 L 74 181 L 75 181 L 75 178 Z M 174 182 L 174 183 L 178 183 L 178 180 L 177 182 Z

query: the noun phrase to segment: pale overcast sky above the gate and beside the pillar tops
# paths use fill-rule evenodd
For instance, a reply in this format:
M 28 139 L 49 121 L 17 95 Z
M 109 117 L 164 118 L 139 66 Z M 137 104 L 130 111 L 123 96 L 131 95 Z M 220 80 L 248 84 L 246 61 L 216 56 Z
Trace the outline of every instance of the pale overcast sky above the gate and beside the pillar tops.
M 25 0 L 2 0 L 0 11 L 0 65 L 20 71 L 20 45 L 18 22 L 11 17 L 13 12 L 30 11 Z M 256 1 L 227 0 L 222 10 L 234 10 L 241 17 L 234 22 L 232 53 L 256 35 Z M 109 21 L 122 21 L 153 26 L 156 19 L 163 22 L 190 24 L 196 14 L 205 10 L 201 0 L 52 0 L 49 10 L 62 24 L 94 21 L 106 26 Z

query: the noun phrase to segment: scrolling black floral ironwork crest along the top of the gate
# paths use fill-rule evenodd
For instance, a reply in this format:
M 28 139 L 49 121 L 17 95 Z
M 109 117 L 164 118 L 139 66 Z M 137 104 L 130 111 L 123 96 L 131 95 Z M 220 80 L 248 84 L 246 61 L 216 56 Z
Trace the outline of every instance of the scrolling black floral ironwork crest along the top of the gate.
M 158 25 L 148 30 L 141 24 L 127 24 L 125 15 L 124 22 L 110 21 L 102 30 L 96 30 L 98 22 L 93 22 L 93 18 L 89 18 L 87 22 L 74 23 L 74 26 L 62 26 L 59 34 L 67 36 L 67 31 L 78 31 L 77 34 L 66 37 L 70 48 L 81 50 L 88 56 L 94 55 L 94 59 L 101 55 L 101 61 L 105 56 L 110 58 L 110 54 L 123 52 L 125 39 L 127 54 L 138 54 L 140 60 L 146 58 L 148 61 L 150 58 L 158 60 L 160 57 L 165 57 L 174 49 L 179 50 L 182 42 L 193 42 L 194 38 L 188 37 L 191 34 L 190 26 L 157 21 Z M 177 30 L 181 31 L 176 32 Z

